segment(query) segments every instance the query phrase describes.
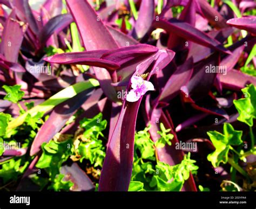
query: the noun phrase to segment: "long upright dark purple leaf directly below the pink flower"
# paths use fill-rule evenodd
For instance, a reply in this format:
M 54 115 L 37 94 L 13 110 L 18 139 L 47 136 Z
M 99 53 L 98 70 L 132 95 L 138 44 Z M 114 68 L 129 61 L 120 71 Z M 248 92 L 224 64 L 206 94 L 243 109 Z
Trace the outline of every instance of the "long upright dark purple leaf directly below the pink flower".
M 164 67 L 167 64 L 168 62 L 162 66 Z M 156 66 L 154 65 L 151 68 L 147 81 L 150 79 L 152 72 L 156 70 Z M 143 74 L 147 67 L 137 68 L 133 75 Z M 131 81 L 128 88 L 130 88 L 130 84 Z M 129 90 L 128 88 L 126 93 Z M 127 191 L 129 188 L 132 173 L 135 126 L 142 98 L 140 97 L 137 102 L 125 100 L 123 103 L 116 127 L 113 130 L 109 146 L 107 147 L 99 180 L 99 191 Z M 127 145 L 129 149 L 127 149 Z

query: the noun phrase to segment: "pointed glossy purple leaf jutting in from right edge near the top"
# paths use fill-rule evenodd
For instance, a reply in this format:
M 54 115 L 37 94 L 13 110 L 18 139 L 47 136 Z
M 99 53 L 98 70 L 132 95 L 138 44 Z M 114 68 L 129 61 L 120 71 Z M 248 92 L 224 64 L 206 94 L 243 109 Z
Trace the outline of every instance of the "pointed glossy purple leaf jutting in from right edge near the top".
M 256 17 L 241 17 L 227 20 L 227 24 L 246 30 L 256 36 Z

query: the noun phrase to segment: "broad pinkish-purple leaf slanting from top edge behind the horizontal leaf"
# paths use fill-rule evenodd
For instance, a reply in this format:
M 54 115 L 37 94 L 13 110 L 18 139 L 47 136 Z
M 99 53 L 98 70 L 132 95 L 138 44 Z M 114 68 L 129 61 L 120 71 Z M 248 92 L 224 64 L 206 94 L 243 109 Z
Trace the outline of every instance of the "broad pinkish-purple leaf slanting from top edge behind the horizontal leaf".
M 119 47 L 107 27 L 87 1 L 67 0 L 66 3 L 78 26 L 87 51 L 114 50 Z M 110 75 L 104 68 L 93 69 L 105 95 L 112 101 L 118 101 L 116 90 L 111 86 L 111 81 L 117 81 L 115 72 Z

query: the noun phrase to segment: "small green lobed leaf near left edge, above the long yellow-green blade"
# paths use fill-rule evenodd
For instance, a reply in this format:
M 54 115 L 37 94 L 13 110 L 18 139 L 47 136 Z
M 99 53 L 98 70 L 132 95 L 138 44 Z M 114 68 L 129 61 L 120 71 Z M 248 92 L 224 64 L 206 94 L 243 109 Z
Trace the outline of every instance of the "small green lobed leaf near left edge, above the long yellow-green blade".
M 24 96 L 24 92 L 21 90 L 21 85 L 15 85 L 15 86 L 3 86 L 3 89 L 7 93 L 4 96 L 4 100 L 11 101 L 13 103 L 17 103 L 19 100 L 22 99 Z

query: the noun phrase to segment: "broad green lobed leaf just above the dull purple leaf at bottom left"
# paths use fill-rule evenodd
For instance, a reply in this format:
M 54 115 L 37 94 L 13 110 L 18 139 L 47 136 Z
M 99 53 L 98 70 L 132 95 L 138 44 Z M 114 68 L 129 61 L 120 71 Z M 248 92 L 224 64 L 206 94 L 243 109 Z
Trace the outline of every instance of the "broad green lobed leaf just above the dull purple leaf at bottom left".
M 36 167 L 39 169 L 46 169 L 50 179 L 53 180 L 59 173 L 60 166 L 73 153 L 72 140 L 64 142 L 55 142 L 51 140 L 49 143 L 42 144 L 43 154 L 39 158 Z

